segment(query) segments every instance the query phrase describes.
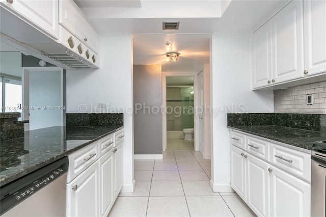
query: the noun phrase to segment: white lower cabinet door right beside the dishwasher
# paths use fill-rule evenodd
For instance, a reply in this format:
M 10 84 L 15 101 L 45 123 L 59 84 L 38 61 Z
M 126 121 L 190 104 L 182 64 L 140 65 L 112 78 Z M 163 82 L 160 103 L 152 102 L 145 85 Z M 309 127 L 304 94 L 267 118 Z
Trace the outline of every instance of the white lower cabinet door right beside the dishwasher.
M 98 161 L 67 184 L 67 216 L 99 216 Z

